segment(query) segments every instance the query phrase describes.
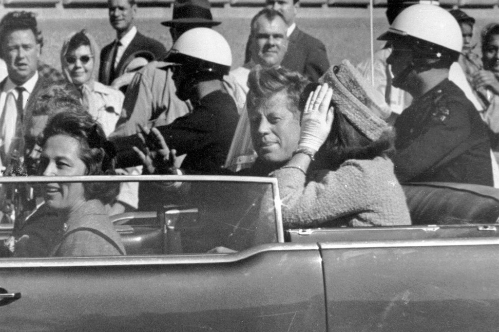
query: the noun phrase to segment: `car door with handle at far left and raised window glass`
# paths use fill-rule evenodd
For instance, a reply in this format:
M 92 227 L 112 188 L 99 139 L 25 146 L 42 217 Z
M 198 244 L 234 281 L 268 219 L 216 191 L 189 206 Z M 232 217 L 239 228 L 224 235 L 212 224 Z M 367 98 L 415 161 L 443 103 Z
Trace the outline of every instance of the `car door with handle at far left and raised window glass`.
M 198 184 L 206 181 L 202 176 L 195 178 Z M 207 215 L 226 224 L 227 216 L 224 220 L 217 218 L 229 213 L 226 205 L 237 204 L 221 203 L 209 213 L 202 210 L 213 197 L 221 197 L 217 190 L 233 195 L 231 186 L 237 184 L 239 191 L 245 187 L 241 178 L 227 178 L 208 188 L 212 196 L 196 206 L 200 209 L 197 217 L 184 220 L 182 229 L 174 230 L 192 231 L 186 224 L 202 223 Z M 147 177 L 140 180 L 143 179 Z M 188 181 L 186 177 L 173 179 Z M 210 185 L 215 183 L 214 177 L 210 181 Z M 271 189 L 270 202 L 265 203 L 273 206 L 278 202 L 274 202 L 278 197 L 275 179 L 251 181 L 253 189 Z M 240 194 L 236 201 L 245 200 L 241 197 Z M 1 258 L 1 330 L 325 331 L 319 247 L 313 243 L 283 243 L 280 210 L 268 211 L 276 222 L 263 228 L 273 230 L 269 238 L 275 240 L 250 241 L 247 248 L 228 254 L 167 252 L 116 257 Z M 242 212 L 248 214 L 246 209 Z M 175 228 L 172 220 L 159 225 L 167 240 L 172 238 L 168 235 L 169 227 Z M 234 224 L 246 230 L 251 227 L 246 221 Z M 128 226 L 134 232 L 133 223 Z

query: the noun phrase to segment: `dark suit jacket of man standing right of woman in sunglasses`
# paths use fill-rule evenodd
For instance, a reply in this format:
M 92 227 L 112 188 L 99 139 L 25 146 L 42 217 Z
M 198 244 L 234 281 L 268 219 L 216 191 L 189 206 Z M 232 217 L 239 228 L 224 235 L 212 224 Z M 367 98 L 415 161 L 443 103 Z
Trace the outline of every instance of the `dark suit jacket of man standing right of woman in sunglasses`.
M 113 61 L 114 54 L 111 54 L 113 50 L 114 41 L 102 48 L 100 52 L 100 67 L 99 67 L 99 82 L 104 85 L 111 85 L 114 79 L 117 77 L 116 73 L 120 73 L 122 68 L 127 65 L 127 60 L 134 53 L 139 51 L 148 51 L 155 55 L 155 59 L 163 58 L 166 55 L 165 46 L 156 39 L 144 36 L 142 33 L 138 32 L 133 37 L 132 41 L 128 47 L 123 52 L 120 62 L 114 70 L 106 72 L 106 68 L 112 68 L 108 63 Z

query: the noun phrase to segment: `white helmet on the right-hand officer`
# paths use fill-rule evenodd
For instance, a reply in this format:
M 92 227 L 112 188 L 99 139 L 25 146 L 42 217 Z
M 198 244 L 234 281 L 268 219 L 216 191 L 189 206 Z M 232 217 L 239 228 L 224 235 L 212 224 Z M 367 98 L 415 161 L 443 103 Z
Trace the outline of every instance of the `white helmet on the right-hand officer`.
M 414 4 L 397 15 L 378 40 L 403 40 L 422 57 L 457 61 L 463 48 L 459 23 L 447 10 L 434 4 Z

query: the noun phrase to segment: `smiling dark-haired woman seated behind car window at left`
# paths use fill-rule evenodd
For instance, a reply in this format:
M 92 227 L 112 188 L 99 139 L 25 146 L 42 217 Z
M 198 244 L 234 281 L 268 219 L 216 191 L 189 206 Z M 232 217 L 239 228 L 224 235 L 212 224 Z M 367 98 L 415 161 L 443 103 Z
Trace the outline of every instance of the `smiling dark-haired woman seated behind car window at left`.
M 102 127 L 85 112 L 53 116 L 43 131 L 39 174 L 81 176 L 114 174 L 113 149 Z M 43 183 L 43 205 L 17 234 L 14 256 L 124 255 L 106 205 L 119 193 L 118 182 Z M 41 248 L 33 248 L 39 243 Z M 33 242 L 37 241 L 37 242 Z

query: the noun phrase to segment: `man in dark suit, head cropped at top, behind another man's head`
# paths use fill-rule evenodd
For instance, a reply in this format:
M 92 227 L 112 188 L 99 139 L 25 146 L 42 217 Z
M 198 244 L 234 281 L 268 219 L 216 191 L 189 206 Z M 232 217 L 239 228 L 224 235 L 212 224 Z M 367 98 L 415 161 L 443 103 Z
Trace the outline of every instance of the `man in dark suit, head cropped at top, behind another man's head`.
M 289 45 L 281 65 L 316 82 L 329 68 L 329 60 L 324 44 L 296 26 L 295 17 L 299 6 L 298 0 L 266 0 L 266 7 L 281 12 L 289 26 Z M 248 40 L 245 63 L 250 59 L 251 47 Z

